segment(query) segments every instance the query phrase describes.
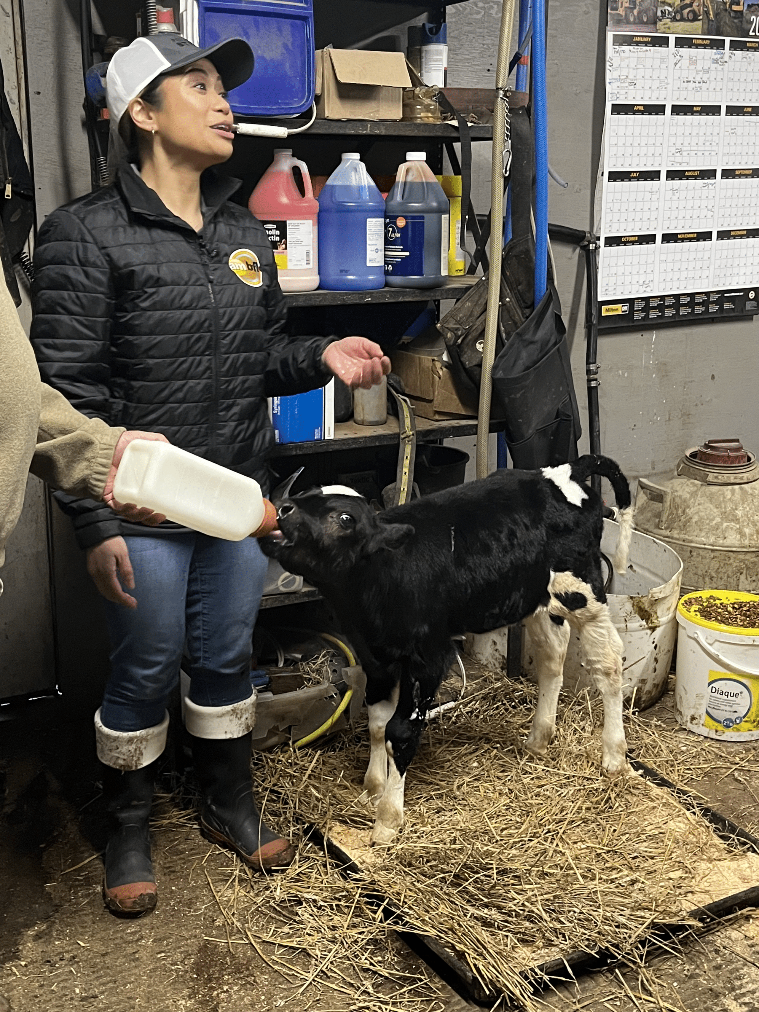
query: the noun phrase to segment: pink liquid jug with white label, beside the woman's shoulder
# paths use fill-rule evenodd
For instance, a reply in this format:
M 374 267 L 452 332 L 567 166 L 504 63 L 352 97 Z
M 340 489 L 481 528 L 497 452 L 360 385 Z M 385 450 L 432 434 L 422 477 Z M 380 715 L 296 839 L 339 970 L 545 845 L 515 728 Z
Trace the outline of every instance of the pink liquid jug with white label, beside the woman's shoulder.
M 300 169 L 305 195 L 296 183 Z M 313 291 L 319 287 L 319 201 L 305 162 L 290 148 L 274 150 L 274 161 L 250 195 L 248 208 L 266 229 L 274 251 L 282 291 Z

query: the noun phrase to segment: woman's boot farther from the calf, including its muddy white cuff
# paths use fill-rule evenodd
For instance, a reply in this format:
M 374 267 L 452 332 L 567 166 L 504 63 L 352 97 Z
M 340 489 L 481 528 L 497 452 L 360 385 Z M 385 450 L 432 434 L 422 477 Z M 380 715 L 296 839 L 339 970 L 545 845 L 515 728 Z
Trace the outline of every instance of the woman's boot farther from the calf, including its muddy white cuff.
M 145 731 L 111 731 L 95 713 L 97 757 L 104 765 L 103 798 L 110 823 L 103 900 L 108 910 L 139 916 L 158 902 L 150 855 L 150 810 L 169 714 Z

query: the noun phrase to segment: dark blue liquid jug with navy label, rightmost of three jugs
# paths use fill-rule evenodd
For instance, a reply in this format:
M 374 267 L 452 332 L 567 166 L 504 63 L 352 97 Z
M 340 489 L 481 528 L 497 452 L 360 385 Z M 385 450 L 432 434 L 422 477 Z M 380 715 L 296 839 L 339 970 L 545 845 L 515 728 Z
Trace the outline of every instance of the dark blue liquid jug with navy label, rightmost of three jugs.
M 410 151 L 385 201 L 385 282 L 436 288 L 448 276 L 450 204 L 426 152 Z

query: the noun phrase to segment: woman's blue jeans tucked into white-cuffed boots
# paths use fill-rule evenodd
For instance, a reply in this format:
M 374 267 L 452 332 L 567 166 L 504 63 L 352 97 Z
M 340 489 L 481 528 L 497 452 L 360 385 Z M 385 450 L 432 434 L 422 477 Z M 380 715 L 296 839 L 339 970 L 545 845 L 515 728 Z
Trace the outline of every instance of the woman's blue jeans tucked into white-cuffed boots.
M 100 720 L 142 731 L 163 720 L 189 658 L 189 697 L 225 706 L 251 694 L 253 626 L 267 561 L 254 537 L 225 541 L 188 531 L 128 537 L 137 609 L 105 602 L 110 677 Z

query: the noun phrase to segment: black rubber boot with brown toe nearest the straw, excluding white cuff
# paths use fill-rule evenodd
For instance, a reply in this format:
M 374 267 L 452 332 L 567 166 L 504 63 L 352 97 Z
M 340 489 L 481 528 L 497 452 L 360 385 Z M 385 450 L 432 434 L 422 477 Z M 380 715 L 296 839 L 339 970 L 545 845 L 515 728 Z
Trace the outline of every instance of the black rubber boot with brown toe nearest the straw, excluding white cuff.
M 231 847 L 257 871 L 285 868 L 296 848 L 261 821 L 250 782 L 252 733 L 242 738 L 195 738 L 192 758 L 200 781 L 200 827 L 207 840 Z

